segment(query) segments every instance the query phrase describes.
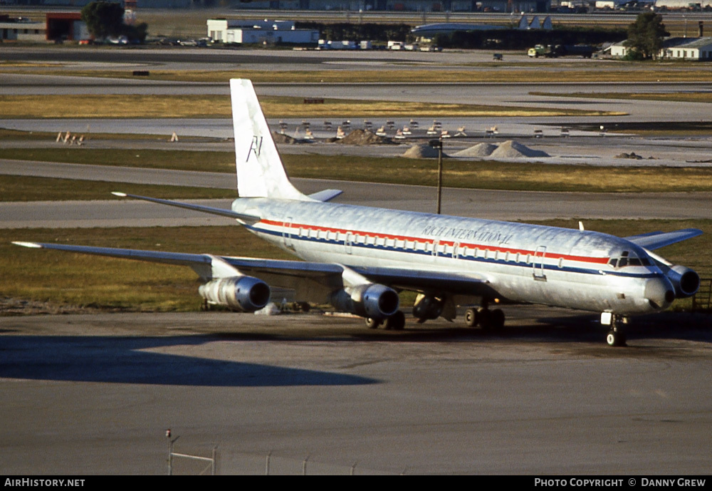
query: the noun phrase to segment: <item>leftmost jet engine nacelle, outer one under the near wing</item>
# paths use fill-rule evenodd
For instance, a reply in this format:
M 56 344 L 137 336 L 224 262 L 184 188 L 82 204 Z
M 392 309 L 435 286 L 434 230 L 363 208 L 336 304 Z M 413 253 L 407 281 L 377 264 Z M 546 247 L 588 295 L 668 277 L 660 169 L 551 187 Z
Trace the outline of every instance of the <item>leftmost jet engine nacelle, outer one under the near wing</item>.
M 198 292 L 209 304 L 225 305 L 239 312 L 263 309 L 270 296 L 269 286 L 252 276 L 212 279 L 199 286 Z

